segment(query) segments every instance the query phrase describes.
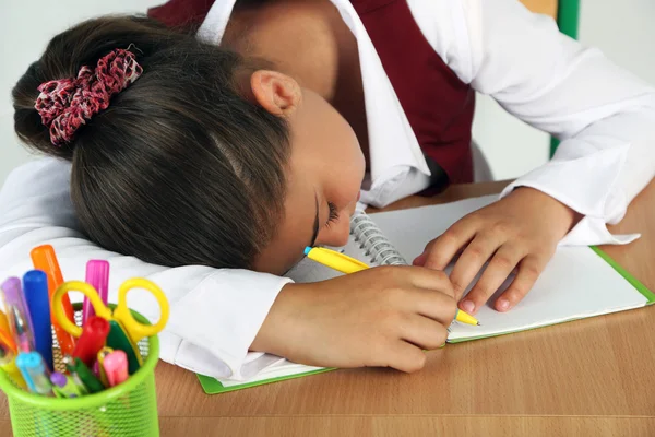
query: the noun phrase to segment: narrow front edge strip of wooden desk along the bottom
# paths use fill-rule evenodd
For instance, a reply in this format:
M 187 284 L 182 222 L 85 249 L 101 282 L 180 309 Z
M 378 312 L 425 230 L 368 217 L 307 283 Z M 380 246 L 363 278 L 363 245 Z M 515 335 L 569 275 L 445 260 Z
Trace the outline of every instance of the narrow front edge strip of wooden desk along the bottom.
M 651 417 L 331 416 L 162 420 L 162 436 L 239 437 L 652 437 Z M 190 434 L 192 433 L 192 434 Z

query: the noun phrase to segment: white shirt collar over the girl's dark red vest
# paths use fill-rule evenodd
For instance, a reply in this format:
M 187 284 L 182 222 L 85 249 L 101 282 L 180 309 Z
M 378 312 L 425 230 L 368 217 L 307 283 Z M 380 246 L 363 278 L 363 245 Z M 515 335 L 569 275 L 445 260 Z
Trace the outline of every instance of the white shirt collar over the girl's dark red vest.
M 430 176 L 407 116 L 386 76 L 364 23 L 348 0 L 331 0 L 357 38 L 368 122 L 371 190 L 416 168 Z M 219 44 L 236 0 L 216 0 L 198 37 Z

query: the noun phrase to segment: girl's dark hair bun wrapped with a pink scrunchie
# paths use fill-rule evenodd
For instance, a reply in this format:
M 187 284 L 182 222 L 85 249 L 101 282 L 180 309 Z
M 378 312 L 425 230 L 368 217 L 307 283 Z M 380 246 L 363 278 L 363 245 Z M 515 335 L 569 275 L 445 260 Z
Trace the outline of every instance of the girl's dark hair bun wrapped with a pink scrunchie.
M 16 134 L 33 149 L 72 160 L 79 128 L 141 74 L 148 57 L 184 37 L 138 16 L 94 19 L 55 36 L 12 91 Z M 86 78 L 78 90 L 86 73 L 102 79 Z

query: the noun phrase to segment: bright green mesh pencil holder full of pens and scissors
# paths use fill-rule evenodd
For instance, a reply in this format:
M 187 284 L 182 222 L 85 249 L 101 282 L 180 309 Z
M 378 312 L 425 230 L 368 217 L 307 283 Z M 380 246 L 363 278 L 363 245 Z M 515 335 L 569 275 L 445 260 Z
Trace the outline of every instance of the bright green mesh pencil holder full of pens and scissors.
M 81 321 L 80 306 L 75 319 Z M 148 323 L 132 311 L 134 319 Z M 159 358 L 156 335 L 139 342 L 143 366 L 124 382 L 94 394 L 59 399 L 31 393 L 16 387 L 0 370 L 0 389 L 7 394 L 11 426 L 15 437 L 88 436 L 146 437 L 159 435 L 155 366 Z M 55 367 L 63 368 L 61 354 L 55 344 Z

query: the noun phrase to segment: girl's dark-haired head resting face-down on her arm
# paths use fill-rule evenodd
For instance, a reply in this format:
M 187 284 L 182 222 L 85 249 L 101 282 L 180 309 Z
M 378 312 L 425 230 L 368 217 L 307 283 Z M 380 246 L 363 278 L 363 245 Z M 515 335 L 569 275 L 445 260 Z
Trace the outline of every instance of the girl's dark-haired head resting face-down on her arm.
M 96 68 L 116 54 L 134 62 L 132 76 L 105 108 L 88 96 L 114 86 L 116 74 Z M 15 130 L 72 162 L 73 204 L 100 246 L 165 265 L 282 273 L 314 234 L 345 241 L 364 160 L 332 106 L 269 67 L 146 19 L 93 20 L 55 37 L 21 78 Z M 39 86 L 66 79 L 63 103 L 41 119 Z M 52 137 L 71 105 L 82 123 Z

